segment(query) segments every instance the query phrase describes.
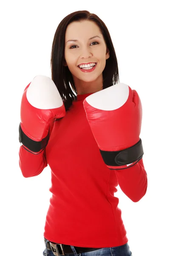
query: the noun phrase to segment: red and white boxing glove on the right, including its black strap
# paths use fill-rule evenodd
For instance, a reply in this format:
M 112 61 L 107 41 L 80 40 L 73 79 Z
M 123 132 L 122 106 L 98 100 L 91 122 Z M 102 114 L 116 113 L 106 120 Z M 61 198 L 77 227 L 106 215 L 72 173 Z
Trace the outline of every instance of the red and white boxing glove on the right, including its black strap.
M 86 116 L 109 169 L 126 169 L 143 156 L 142 105 L 136 90 L 118 83 L 88 96 Z

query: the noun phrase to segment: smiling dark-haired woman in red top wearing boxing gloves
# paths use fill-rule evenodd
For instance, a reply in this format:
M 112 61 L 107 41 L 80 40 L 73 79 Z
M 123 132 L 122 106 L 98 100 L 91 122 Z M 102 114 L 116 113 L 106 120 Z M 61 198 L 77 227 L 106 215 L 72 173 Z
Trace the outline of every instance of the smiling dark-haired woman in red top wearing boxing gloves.
M 121 151 L 122 144 L 127 149 L 127 138 L 128 146 L 133 145 L 135 132 L 139 139 L 142 110 L 137 93 L 118 83 L 111 36 L 97 15 L 77 11 L 59 23 L 51 50 L 51 78 L 38 76 L 26 87 L 20 127 L 21 142 L 28 138 L 31 148 L 20 147 L 24 177 L 39 175 L 47 165 L 51 168 L 52 196 L 43 255 L 130 256 L 119 199 L 114 194 L 119 184 L 128 198 L 139 201 L 146 193 L 147 175 L 141 155 L 126 170 L 118 166 L 114 156 L 115 148 Z M 139 105 L 136 119 L 133 98 Z M 100 108 L 101 103 L 107 111 Z M 124 116 L 130 117 L 130 125 L 134 122 L 137 128 L 129 125 L 124 131 Z M 109 146 L 105 150 L 96 141 L 109 142 Z M 119 141 L 121 145 L 116 144 Z M 34 154 L 34 148 L 41 151 Z

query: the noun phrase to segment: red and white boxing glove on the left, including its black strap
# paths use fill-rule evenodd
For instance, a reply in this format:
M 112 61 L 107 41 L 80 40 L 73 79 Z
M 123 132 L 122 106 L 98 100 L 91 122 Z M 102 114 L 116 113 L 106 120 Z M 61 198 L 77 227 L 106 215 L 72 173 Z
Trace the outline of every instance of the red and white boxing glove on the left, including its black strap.
M 54 81 L 36 76 L 24 90 L 20 108 L 19 141 L 33 154 L 39 154 L 49 140 L 50 123 L 65 116 L 65 106 Z

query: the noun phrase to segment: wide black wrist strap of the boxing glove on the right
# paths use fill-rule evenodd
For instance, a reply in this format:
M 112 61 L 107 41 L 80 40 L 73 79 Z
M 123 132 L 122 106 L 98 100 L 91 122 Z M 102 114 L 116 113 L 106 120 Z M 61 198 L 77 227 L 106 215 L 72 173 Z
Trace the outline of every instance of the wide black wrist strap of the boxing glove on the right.
M 130 148 L 120 151 L 102 151 L 102 158 L 107 166 L 125 166 L 142 159 L 144 154 L 142 140 Z

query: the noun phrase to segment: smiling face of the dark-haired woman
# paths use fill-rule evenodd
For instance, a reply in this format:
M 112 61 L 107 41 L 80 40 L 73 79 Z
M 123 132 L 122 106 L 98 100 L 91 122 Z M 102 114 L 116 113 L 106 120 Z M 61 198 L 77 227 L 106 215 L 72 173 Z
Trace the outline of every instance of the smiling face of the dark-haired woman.
M 65 32 L 65 66 L 72 73 L 74 82 L 91 82 L 101 77 L 108 58 L 109 51 L 96 23 L 82 20 L 68 25 Z M 87 63 L 96 63 L 93 71 L 83 72 L 79 67 Z

